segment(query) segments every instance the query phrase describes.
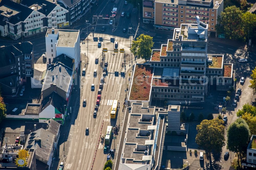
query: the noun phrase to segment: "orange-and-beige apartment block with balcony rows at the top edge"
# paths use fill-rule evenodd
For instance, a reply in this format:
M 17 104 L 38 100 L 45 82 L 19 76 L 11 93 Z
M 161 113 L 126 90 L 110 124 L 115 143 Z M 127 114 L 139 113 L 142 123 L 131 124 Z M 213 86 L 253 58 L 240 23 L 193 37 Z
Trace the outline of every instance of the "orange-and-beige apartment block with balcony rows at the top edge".
M 223 0 L 146 0 L 143 1 L 143 22 L 153 23 L 156 30 L 171 31 L 182 23 L 209 24 L 208 31 L 216 32 L 217 16 L 223 11 Z

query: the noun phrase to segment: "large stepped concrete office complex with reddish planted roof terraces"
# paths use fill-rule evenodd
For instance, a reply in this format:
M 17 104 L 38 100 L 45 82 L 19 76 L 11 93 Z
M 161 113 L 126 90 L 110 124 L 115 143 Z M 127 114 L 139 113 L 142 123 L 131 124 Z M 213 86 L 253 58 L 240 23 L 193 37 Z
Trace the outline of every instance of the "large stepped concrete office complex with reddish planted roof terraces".
M 223 55 L 207 54 L 208 24 L 181 24 L 172 39 L 153 50 L 150 64 L 136 64 L 128 105 L 176 105 L 204 102 L 210 88 L 227 91 L 234 86 L 233 64 Z M 139 81 L 138 81 L 139 80 Z

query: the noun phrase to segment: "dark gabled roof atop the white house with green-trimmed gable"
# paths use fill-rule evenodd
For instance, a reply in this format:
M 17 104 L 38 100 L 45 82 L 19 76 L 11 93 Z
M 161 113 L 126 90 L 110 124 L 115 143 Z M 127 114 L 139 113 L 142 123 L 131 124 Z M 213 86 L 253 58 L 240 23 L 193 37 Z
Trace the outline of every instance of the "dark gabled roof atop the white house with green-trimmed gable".
M 49 96 L 47 96 L 41 102 L 41 106 L 39 108 L 39 113 L 42 112 L 49 105 L 54 106 L 60 113 L 64 114 L 64 105 L 66 105 L 67 101 L 62 99 L 56 92 L 52 92 Z

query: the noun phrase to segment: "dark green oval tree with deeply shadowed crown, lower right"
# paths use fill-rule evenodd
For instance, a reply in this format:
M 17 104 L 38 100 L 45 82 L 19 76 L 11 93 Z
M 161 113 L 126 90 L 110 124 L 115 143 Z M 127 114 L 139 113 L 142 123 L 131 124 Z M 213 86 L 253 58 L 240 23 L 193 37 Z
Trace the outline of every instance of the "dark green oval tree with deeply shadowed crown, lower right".
M 249 126 L 242 118 L 238 118 L 234 123 L 231 123 L 227 130 L 227 149 L 240 155 L 241 152 L 246 151 L 248 141 L 251 137 Z M 237 157 L 238 167 L 239 156 Z

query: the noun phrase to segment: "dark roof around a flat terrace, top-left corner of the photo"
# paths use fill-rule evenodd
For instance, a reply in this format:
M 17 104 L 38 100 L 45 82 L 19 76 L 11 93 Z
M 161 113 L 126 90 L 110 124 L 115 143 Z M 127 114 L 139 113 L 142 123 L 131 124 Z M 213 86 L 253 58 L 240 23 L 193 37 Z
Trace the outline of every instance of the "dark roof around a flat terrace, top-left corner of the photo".
M 1 1 L 0 7 L 2 7 L 2 6 L 4 6 L 4 7 L 0 11 L 0 13 L 3 13 L 3 10 L 5 8 L 12 9 L 13 11 L 16 11 L 16 14 L 13 14 L 9 19 L 9 22 L 13 23 L 13 24 L 16 24 L 20 21 L 24 21 L 33 12 L 33 9 L 30 9 L 24 5 L 18 4 L 16 2 L 13 2 L 10 0 Z M 3 15 L 3 14 L 1 14 L 1 15 Z

